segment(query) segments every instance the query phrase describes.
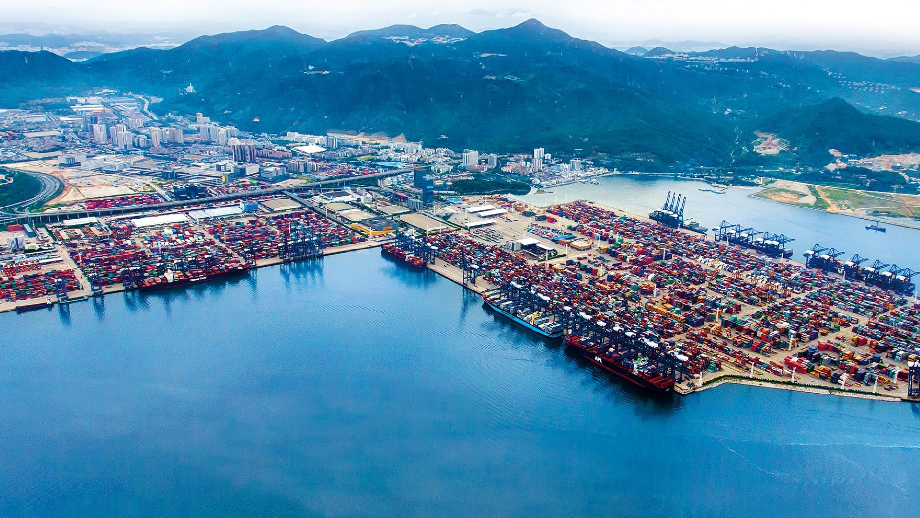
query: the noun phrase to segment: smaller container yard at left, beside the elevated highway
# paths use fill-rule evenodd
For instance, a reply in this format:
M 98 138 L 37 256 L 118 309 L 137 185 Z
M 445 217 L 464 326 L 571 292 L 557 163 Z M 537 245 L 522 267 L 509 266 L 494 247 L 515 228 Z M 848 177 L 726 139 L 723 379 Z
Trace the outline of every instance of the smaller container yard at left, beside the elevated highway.
M 299 203 L 282 213 L 202 202 L 144 217 L 64 221 L 41 228 L 29 249 L 0 256 L 0 312 L 178 287 L 379 244 Z

